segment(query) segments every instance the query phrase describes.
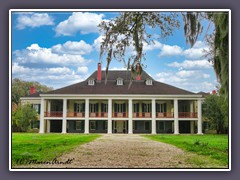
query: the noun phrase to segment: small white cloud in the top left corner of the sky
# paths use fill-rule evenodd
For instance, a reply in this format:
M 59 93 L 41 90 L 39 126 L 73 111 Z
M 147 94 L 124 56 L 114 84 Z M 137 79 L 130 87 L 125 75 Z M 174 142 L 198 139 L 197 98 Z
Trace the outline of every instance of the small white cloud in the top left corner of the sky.
M 35 28 L 44 25 L 54 25 L 53 18 L 47 13 L 24 13 L 17 17 L 17 29 Z

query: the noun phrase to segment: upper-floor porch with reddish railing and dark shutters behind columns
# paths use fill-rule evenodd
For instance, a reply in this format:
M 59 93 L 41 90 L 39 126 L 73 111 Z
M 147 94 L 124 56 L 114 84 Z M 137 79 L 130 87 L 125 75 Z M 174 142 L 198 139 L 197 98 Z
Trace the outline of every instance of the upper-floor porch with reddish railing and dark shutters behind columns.
M 173 99 L 45 99 L 44 118 L 63 118 L 64 111 L 66 118 L 75 119 L 198 118 L 197 101 L 177 100 L 174 107 Z

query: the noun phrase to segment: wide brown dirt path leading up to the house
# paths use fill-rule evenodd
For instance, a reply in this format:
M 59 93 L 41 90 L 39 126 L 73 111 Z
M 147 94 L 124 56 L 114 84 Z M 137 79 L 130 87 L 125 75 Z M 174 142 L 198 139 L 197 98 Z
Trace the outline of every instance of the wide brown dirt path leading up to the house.
M 57 158 L 70 164 L 31 165 L 30 168 L 187 168 L 186 153 L 140 135 L 103 135 Z M 29 166 L 28 166 L 29 167 Z

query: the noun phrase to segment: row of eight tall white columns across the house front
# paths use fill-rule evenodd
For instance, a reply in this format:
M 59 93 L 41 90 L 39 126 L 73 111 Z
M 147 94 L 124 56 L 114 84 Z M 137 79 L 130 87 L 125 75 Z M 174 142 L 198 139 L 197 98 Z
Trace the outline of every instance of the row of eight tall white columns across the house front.
M 85 116 L 84 116 L 84 132 L 86 134 L 89 133 L 89 102 L 90 100 L 88 98 L 84 99 L 84 102 L 85 102 Z M 113 118 L 112 117 L 112 105 L 113 105 L 113 100 L 112 99 L 108 99 L 107 101 L 108 103 L 108 106 L 107 106 L 107 133 L 112 133 L 113 132 Z M 201 107 L 201 100 L 199 99 L 198 102 L 197 102 L 197 108 L 198 108 L 198 123 L 197 123 L 197 133 L 198 134 L 202 134 L 202 107 Z M 48 101 L 48 107 L 47 109 L 50 110 L 50 101 Z M 151 99 L 151 114 L 152 116 L 150 116 L 150 119 L 151 119 L 151 133 L 152 134 L 156 134 L 156 126 L 157 126 L 157 123 L 156 123 L 156 99 Z M 174 107 L 174 134 L 179 134 L 179 106 L 178 106 L 178 99 L 174 99 L 173 101 L 173 107 Z M 44 119 L 47 119 L 47 118 L 44 118 L 44 98 L 41 99 L 41 114 L 40 114 L 40 133 L 44 133 Z M 66 133 L 67 131 L 67 99 L 64 98 L 63 99 L 63 106 L 62 106 L 62 109 L 63 109 L 63 112 L 62 112 L 62 133 Z M 192 107 L 193 105 L 191 105 L 191 109 L 193 109 Z M 129 134 L 132 134 L 133 133 L 133 107 L 134 107 L 134 110 L 136 110 L 136 106 L 133 106 L 133 99 L 128 99 L 128 115 L 127 115 L 127 118 L 124 118 L 123 120 L 124 121 L 127 121 L 127 125 L 128 125 L 128 133 Z M 121 118 L 120 118 L 121 119 Z M 135 118 L 134 121 L 137 121 L 137 119 Z M 148 120 L 149 121 L 149 118 Z M 190 128 L 191 128 L 191 132 L 194 132 L 194 123 L 191 122 L 190 123 Z

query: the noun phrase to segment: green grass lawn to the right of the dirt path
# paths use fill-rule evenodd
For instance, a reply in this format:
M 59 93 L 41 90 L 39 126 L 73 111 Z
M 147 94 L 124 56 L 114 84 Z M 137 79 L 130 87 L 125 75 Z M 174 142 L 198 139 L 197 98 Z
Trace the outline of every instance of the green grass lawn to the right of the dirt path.
M 201 165 L 203 161 L 212 161 L 219 166 L 228 167 L 227 135 L 144 135 L 144 137 L 200 155 L 200 158 L 190 160 L 193 164 Z

